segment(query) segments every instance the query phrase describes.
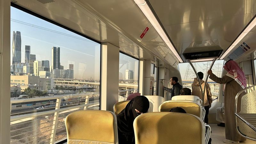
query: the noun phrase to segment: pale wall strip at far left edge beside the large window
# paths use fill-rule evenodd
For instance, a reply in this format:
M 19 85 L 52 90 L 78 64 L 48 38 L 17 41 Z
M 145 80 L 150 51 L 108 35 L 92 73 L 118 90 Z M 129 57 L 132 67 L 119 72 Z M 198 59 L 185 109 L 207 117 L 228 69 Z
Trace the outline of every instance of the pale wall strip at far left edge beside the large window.
M 10 7 L 0 0 L 0 143 L 10 143 Z

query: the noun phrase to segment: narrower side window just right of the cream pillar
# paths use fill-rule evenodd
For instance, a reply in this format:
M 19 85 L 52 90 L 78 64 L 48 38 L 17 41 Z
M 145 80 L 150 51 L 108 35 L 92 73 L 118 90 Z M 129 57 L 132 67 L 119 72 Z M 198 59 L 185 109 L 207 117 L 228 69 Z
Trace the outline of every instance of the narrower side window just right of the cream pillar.
M 119 53 L 119 100 L 126 100 L 129 94 L 137 93 L 139 86 L 139 60 Z

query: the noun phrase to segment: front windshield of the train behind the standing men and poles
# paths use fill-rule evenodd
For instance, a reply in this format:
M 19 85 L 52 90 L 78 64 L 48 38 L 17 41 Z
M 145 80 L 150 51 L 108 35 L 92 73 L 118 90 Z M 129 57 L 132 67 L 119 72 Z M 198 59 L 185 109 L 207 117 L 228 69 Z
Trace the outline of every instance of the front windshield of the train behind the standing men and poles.
M 205 76 L 207 74 L 208 69 L 211 66 L 211 63 L 212 63 L 212 61 L 193 63 L 197 72 L 201 71 L 204 73 L 203 80 L 205 80 Z M 224 60 L 216 60 L 215 63 L 213 64 L 212 72 L 218 77 L 222 76 L 223 63 L 224 63 Z M 191 89 L 191 84 L 193 83 L 194 78 L 196 78 L 194 70 L 192 69 L 192 67 L 190 66 L 189 63 L 180 63 L 179 68 L 180 68 L 180 75 L 182 78 L 183 87 L 187 87 L 187 88 Z M 213 82 L 209 78 L 207 81 L 211 88 L 212 99 L 217 98 L 218 93 L 219 93 L 220 84 Z

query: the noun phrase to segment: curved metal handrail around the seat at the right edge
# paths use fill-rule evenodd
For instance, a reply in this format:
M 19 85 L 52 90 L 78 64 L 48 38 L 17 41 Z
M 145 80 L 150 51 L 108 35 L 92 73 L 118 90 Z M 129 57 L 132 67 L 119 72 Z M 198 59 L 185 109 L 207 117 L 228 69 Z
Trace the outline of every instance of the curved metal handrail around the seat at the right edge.
M 237 132 L 238 134 L 240 134 L 242 137 L 246 138 L 246 139 L 250 139 L 250 140 L 256 141 L 256 139 L 253 139 L 253 138 L 244 136 L 244 135 L 238 130 L 238 127 L 237 127 L 237 117 L 238 117 L 238 118 L 241 119 L 246 125 L 248 125 L 250 128 L 252 128 L 253 131 L 256 132 L 256 128 L 255 128 L 252 124 L 250 124 L 250 123 L 247 122 L 244 118 L 242 118 L 241 116 L 239 116 L 239 115 L 237 114 L 237 100 L 238 100 L 238 96 L 239 96 L 242 92 L 244 92 L 244 91 L 246 91 L 246 90 L 248 90 L 248 89 L 250 89 L 250 88 L 252 88 L 252 87 L 254 87 L 254 86 L 256 86 L 256 84 L 253 84 L 253 85 L 251 85 L 251 86 L 249 86 L 249 87 L 246 87 L 246 88 L 244 88 L 243 90 L 239 91 L 239 92 L 236 94 L 236 99 L 235 99 L 235 117 L 236 117 L 236 132 Z

